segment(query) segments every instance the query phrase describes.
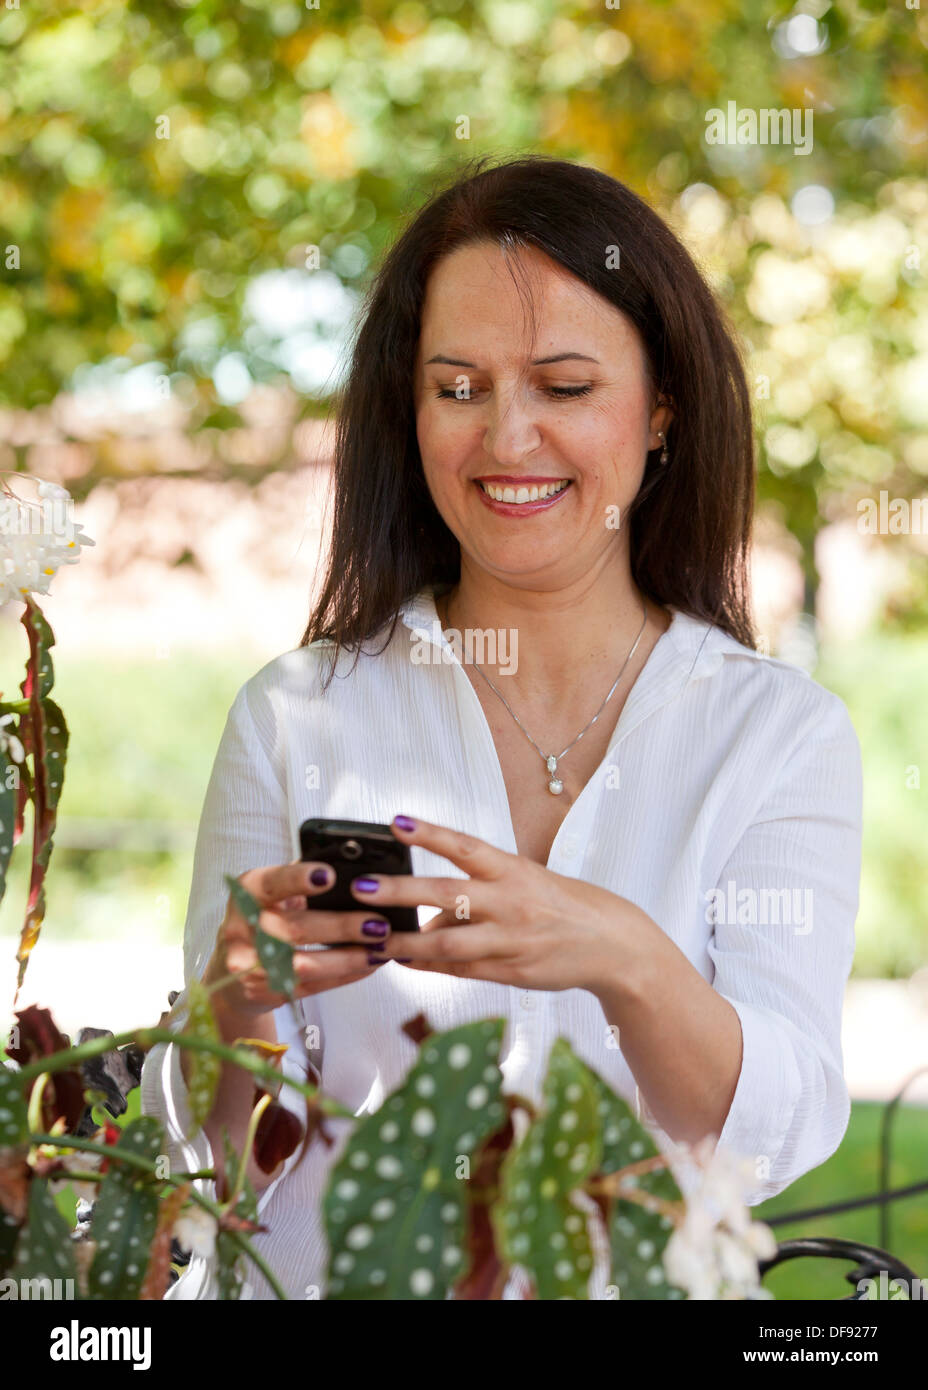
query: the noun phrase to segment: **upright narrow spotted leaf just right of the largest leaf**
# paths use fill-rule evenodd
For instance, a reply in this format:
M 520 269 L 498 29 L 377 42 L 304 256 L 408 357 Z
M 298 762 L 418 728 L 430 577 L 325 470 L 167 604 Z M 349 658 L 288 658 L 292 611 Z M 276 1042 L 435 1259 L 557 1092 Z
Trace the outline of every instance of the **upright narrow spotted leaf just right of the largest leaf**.
M 503 1165 L 496 1238 L 508 1261 L 529 1272 L 538 1298 L 586 1298 L 593 1250 L 586 1215 L 571 1201 L 602 1156 L 592 1073 L 557 1038 L 545 1079 L 542 1113 Z

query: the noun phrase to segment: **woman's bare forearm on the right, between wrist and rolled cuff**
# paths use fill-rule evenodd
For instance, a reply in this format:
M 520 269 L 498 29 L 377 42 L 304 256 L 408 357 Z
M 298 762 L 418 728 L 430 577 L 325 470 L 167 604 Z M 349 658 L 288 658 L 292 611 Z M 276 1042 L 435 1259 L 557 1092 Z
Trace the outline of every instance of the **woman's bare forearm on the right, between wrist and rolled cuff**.
M 642 909 L 636 967 L 593 992 L 656 1122 L 678 1143 L 718 1136 L 740 1074 L 740 1019 Z

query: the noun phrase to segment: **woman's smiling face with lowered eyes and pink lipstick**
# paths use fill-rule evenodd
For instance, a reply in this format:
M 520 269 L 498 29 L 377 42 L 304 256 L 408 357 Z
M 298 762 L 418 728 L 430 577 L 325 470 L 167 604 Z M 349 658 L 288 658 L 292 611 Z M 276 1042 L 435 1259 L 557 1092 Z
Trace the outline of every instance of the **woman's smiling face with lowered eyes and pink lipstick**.
M 499 247 L 460 247 L 432 271 L 417 436 L 463 556 L 506 582 L 557 589 L 627 553 L 625 510 L 671 414 L 652 413 L 645 350 L 625 316 L 542 252 L 518 257 L 533 343 Z

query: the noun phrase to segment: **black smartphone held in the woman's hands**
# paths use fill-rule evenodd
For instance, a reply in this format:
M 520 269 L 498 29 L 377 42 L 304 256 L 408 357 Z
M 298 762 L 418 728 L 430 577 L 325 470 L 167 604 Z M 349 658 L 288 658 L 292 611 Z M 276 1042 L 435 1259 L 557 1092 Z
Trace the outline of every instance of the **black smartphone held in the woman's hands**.
M 364 903 L 351 894 L 353 878 L 413 873 L 410 847 L 400 844 L 389 826 L 367 820 L 304 820 L 300 826 L 300 858 L 335 869 L 332 887 L 306 899 L 310 910 L 363 912 Z M 415 908 L 381 908 L 372 902 L 370 910 L 378 917 L 386 917 L 392 931 L 420 930 Z M 328 944 L 343 947 L 351 942 Z

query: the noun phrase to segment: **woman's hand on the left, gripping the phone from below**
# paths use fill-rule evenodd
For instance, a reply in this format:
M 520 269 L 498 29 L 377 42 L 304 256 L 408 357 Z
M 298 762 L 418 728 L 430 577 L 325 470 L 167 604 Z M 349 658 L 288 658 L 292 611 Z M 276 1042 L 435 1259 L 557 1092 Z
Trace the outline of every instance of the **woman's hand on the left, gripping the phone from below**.
M 270 869 L 249 869 L 239 874 L 239 883 L 261 908 L 258 922 L 268 935 L 290 941 L 293 970 L 297 980 L 295 997 L 321 994 L 372 973 L 368 952 L 382 949 L 389 940 L 390 926 L 376 909 L 358 912 L 307 910 L 306 898 L 332 887 L 335 873 L 328 865 L 297 860 Z M 311 942 L 358 942 L 331 951 L 300 951 Z M 204 983 L 214 984 L 229 974 L 236 979 L 218 990 L 224 1005 L 238 1013 L 260 1015 L 286 1004 L 286 997 L 268 987 L 267 973 L 258 960 L 254 933 L 235 906 L 232 897 L 219 927 L 215 949 L 207 966 Z

